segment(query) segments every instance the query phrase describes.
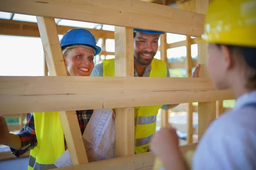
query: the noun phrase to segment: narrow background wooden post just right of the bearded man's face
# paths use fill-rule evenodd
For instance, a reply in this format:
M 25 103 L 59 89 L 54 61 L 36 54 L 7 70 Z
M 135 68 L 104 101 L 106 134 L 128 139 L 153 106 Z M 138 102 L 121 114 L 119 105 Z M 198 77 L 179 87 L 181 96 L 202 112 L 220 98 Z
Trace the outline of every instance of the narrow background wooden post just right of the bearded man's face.
M 166 42 L 166 34 L 162 34 L 160 37 L 160 54 L 161 59 L 168 64 L 167 59 L 167 42 Z M 169 125 L 168 121 L 168 110 L 161 109 L 161 127 L 165 127 Z

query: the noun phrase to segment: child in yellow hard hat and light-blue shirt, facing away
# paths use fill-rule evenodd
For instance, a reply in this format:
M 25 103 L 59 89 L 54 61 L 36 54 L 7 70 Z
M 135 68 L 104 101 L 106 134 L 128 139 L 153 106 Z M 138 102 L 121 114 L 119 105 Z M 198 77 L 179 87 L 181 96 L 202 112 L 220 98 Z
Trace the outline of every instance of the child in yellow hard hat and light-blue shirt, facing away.
M 231 89 L 236 105 L 211 122 L 193 154 L 193 170 L 256 170 L 256 0 L 214 0 L 201 41 L 216 89 Z M 186 169 L 173 127 L 161 128 L 151 150 L 162 169 Z

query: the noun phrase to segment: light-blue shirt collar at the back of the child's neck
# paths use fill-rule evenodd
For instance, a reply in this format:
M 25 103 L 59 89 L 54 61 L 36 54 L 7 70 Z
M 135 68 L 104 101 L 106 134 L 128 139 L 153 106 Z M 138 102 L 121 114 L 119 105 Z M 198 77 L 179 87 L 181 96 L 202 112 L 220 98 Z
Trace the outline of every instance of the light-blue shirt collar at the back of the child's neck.
M 250 93 L 245 93 L 237 98 L 236 105 L 234 106 L 233 110 L 240 109 L 248 103 L 256 103 L 256 90 Z

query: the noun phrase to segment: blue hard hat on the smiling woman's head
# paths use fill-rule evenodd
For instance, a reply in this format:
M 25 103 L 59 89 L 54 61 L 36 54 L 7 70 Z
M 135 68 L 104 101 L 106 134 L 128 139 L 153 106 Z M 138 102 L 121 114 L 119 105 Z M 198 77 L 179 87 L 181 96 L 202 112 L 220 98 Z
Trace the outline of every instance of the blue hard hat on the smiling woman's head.
M 96 53 L 94 56 L 101 52 L 101 48 L 96 45 L 96 39 L 94 35 L 85 28 L 74 28 L 67 31 L 61 39 L 61 48 L 62 50 L 65 47 L 71 45 L 87 45 L 95 49 Z

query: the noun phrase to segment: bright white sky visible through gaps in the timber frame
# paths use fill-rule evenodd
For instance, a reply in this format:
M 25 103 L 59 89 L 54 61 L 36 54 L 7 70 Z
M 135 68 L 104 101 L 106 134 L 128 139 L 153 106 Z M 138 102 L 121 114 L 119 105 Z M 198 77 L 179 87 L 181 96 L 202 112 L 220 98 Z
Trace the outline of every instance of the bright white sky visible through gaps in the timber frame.
M 0 12 L 0 18 L 10 19 L 11 13 Z M 15 14 L 13 20 L 35 22 L 35 16 Z M 55 19 L 56 22 L 59 19 Z M 94 28 L 94 23 L 86 23 L 71 20 L 61 20 L 58 25 L 76 26 L 84 28 Z M 98 28 L 96 26 L 96 28 Z M 103 25 L 102 29 L 114 31 L 114 26 Z M 63 35 L 59 35 L 59 40 Z M 186 40 L 186 36 L 167 33 L 167 43 L 173 43 Z M 160 40 L 159 40 L 160 44 Z M 98 41 L 102 45 L 102 40 Z M 115 41 L 106 40 L 106 51 L 115 51 Z M 197 44 L 191 46 L 192 57 L 198 54 Z M 167 50 L 167 58 L 179 58 L 186 56 L 186 47 L 177 47 Z M 103 56 L 101 56 L 104 58 Z M 106 56 L 106 59 L 114 56 Z M 160 59 L 160 51 L 155 58 Z M 96 64 L 99 63 L 99 57 L 96 57 Z M 44 51 L 39 37 L 20 37 L 0 35 L 0 76 L 44 76 Z

